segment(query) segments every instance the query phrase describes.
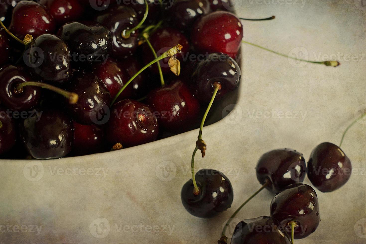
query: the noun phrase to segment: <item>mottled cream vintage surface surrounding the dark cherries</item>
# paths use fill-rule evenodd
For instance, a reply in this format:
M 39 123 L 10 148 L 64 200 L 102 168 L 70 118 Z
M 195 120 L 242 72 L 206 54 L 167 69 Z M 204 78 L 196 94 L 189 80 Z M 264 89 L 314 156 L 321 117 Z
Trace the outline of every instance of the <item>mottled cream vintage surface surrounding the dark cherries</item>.
M 296 63 L 242 47 L 238 105 L 234 114 L 204 129 L 208 150 L 196 160 L 197 169 L 220 169 L 231 180 L 231 209 L 198 219 L 180 202 L 180 189 L 190 178 L 195 130 L 112 153 L 1 160 L 0 243 L 216 243 L 225 220 L 259 188 L 254 167 L 262 153 L 291 147 L 308 159 L 317 144 L 339 143 L 343 130 L 366 109 L 365 1 L 236 3 L 243 17 L 276 15 L 272 21 L 243 22 L 245 40 L 310 60 L 330 56 L 342 64 Z M 357 171 L 341 189 L 318 192 L 321 223 L 296 244 L 366 243 L 365 124 L 356 123 L 343 143 Z M 238 219 L 268 215 L 271 199 L 268 191 L 261 192 Z

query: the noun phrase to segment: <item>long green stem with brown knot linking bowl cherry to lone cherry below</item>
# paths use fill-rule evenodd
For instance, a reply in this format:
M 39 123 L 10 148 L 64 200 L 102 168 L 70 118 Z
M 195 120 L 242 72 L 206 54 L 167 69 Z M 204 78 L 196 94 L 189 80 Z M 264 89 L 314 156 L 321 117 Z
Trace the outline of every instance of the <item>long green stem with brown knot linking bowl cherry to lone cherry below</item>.
M 192 159 L 191 159 L 192 181 L 193 181 L 193 186 L 194 186 L 193 194 L 195 196 L 197 196 L 199 194 L 200 189 L 197 186 L 196 177 L 195 177 L 195 174 L 194 174 L 194 156 L 196 155 L 196 152 L 199 149 L 199 150 L 201 150 L 202 158 L 205 157 L 206 143 L 202 140 L 202 129 L 203 129 L 203 125 L 205 124 L 205 120 L 206 120 L 206 117 L 208 115 L 208 112 L 210 111 L 210 108 L 213 104 L 213 101 L 215 100 L 217 91 L 221 90 L 221 84 L 219 82 L 215 82 L 213 84 L 213 86 L 214 86 L 215 90 L 213 91 L 212 98 L 211 98 L 211 101 L 210 101 L 209 105 L 207 106 L 206 112 L 203 115 L 203 118 L 202 118 L 202 121 L 201 121 L 201 126 L 199 127 L 199 132 L 198 132 L 198 140 L 196 142 L 196 147 L 194 148 L 194 151 L 193 151 L 193 154 L 192 154 Z

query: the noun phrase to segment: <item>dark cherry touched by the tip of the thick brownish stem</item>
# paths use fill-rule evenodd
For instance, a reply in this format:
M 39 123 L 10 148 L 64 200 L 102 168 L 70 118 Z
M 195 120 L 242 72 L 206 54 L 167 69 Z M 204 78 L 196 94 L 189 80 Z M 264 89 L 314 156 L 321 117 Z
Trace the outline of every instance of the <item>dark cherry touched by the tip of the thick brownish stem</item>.
M 94 74 L 78 72 L 66 90 L 79 95 L 76 104 L 67 104 L 72 118 L 80 124 L 104 124 L 105 114 L 111 103 L 111 95 L 103 82 Z

